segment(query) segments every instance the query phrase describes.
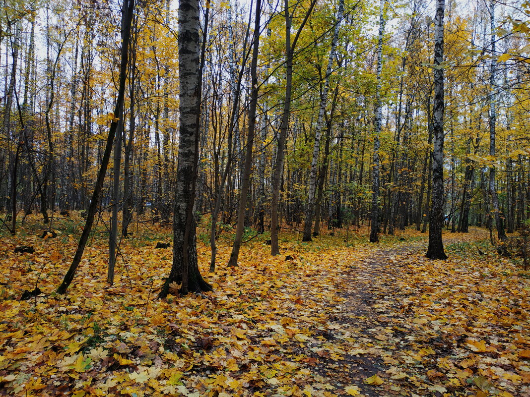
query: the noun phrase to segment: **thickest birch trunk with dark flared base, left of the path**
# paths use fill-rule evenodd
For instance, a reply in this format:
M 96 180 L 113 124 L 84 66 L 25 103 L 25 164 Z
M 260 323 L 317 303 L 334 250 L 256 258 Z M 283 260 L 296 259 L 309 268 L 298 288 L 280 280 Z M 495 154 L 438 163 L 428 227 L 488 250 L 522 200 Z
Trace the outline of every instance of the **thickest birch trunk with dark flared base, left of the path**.
M 209 10 L 209 2 L 206 3 Z M 208 14 L 206 14 L 208 15 Z M 196 224 L 193 216 L 197 181 L 199 121 L 201 105 L 202 68 L 208 17 L 205 19 L 202 60 L 199 65 L 199 1 L 179 3 L 179 162 L 176 173 L 175 206 L 173 214 L 173 264 L 162 291 L 164 298 L 173 282 L 180 282 L 180 293 L 211 291 L 202 278 L 197 263 Z

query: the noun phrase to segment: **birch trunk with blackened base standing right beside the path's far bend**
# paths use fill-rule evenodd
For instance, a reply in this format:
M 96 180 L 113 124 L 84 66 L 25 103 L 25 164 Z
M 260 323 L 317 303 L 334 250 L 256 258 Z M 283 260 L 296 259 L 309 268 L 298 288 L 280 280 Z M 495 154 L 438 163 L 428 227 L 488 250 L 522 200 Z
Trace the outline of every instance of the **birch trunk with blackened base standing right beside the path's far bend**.
M 445 0 L 437 0 L 434 33 L 434 121 L 432 134 L 432 209 L 429 220 L 427 258 L 447 259 L 441 230 L 444 225 L 444 11 Z

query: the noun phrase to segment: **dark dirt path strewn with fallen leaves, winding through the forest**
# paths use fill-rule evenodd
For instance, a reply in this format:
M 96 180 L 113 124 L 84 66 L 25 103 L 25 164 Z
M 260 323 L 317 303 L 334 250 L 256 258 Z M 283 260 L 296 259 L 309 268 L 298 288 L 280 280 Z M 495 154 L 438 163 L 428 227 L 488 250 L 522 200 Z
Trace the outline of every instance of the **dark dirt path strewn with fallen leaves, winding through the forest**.
M 351 258 L 351 266 L 337 279 L 340 301 L 329 305 L 329 327 L 321 332 L 325 340 L 312 349 L 311 369 L 322 376 L 323 383 L 355 385 L 370 397 L 398 394 L 398 387 L 384 382 L 393 364 L 393 351 L 388 348 L 406 346 L 407 334 L 393 326 L 392 317 L 398 315 L 399 308 L 389 310 L 383 303 L 395 292 L 393 276 L 399 272 L 399 258 L 423 249 L 424 242 L 403 242 L 398 247 L 376 250 L 364 260 Z M 372 378 L 374 375 L 379 379 Z M 370 378 L 371 384 L 366 381 Z

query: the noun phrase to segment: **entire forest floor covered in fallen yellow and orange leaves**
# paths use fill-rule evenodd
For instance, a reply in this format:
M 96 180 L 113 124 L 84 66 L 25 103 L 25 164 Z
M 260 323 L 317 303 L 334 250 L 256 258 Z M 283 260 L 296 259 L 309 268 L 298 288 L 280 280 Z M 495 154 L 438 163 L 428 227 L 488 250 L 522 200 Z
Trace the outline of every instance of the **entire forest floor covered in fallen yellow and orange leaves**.
M 236 268 L 226 234 L 215 274 L 199 233 L 214 291 L 157 300 L 171 248 L 154 246 L 170 230 L 139 227 L 108 286 L 101 228 L 56 295 L 82 223 L 40 239 L 30 219 L 0 237 L 0 395 L 530 397 L 530 272 L 482 230 L 444 232 L 446 261 L 426 259 L 414 230 L 377 245 L 366 229 L 348 243 L 282 233 L 279 257 L 259 236 Z

